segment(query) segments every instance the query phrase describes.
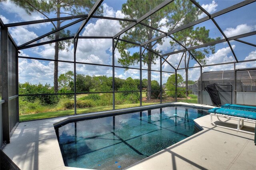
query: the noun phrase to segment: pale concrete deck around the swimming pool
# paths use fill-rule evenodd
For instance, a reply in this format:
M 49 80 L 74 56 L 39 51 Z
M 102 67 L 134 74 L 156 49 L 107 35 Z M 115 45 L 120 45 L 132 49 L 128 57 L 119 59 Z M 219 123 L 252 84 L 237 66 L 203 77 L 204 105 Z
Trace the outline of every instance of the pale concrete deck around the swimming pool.
M 172 104 L 210 107 L 188 103 Z M 22 170 L 81 169 L 66 167 L 62 160 L 53 124 L 65 119 L 67 117 L 19 123 L 11 136 L 10 144 L 7 144 L 3 151 Z M 256 169 L 254 135 L 214 127 L 210 122 L 210 115 L 194 121 L 204 130 L 126 169 Z M 254 131 L 253 124 L 245 125 L 252 127 L 246 130 Z

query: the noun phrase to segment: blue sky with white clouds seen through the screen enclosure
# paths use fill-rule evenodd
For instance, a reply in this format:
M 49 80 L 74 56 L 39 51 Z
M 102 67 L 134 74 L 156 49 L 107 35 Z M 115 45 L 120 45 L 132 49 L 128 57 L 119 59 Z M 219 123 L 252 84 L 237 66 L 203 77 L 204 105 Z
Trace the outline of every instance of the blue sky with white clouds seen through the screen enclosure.
M 124 14 L 121 12 L 122 4 L 125 3 L 125 0 L 105 0 L 102 3 L 104 9 L 104 16 L 111 16 L 117 18 L 124 18 Z M 218 12 L 224 8 L 237 4 L 241 1 L 238 0 L 199 0 L 199 4 L 202 5 L 210 14 Z M 242 7 L 238 10 L 234 10 L 223 16 L 216 17 L 215 20 L 218 22 L 220 28 L 224 31 L 226 36 L 232 37 L 239 34 L 252 32 L 256 30 L 256 2 L 249 4 L 248 6 Z M 204 14 L 201 14 L 199 18 L 204 17 Z M 254 17 L 253 17 L 254 16 Z M 26 14 L 26 12 L 12 2 L 1 2 L 0 4 L 0 17 L 5 24 L 13 22 L 23 22 L 30 20 L 39 20 L 44 19 L 44 16 L 41 14 L 33 13 L 31 16 Z M 54 14 L 50 15 L 50 18 L 54 18 Z M 164 20 L 164 19 L 163 19 Z M 73 20 L 64 22 L 63 24 L 68 24 Z M 76 32 L 80 23 L 66 28 L 71 32 Z M 223 38 L 222 34 L 216 28 L 216 26 L 209 20 L 201 24 L 196 25 L 195 27 L 205 26 L 206 29 L 210 30 L 210 38 Z M 14 38 L 15 42 L 18 45 L 21 45 L 25 42 L 28 42 L 38 36 L 41 36 L 52 30 L 52 25 L 50 23 L 43 24 L 33 24 L 30 26 L 18 26 L 9 28 L 9 32 Z M 121 26 L 118 21 L 114 20 L 103 20 L 103 19 L 92 19 L 86 27 L 82 30 L 81 36 L 114 36 L 121 30 Z M 161 28 L 161 30 L 168 31 L 168 28 Z M 48 41 L 48 38 L 44 38 L 38 42 Z M 164 43 L 162 45 L 157 44 L 154 48 L 161 51 L 161 54 L 176 51 L 175 49 L 170 48 L 170 38 L 164 38 Z M 250 36 L 247 38 L 242 38 L 241 40 L 251 42 L 256 44 L 256 37 Z M 256 59 L 256 48 L 250 45 L 246 45 L 240 42 L 231 41 L 230 42 L 236 57 L 238 60 L 250 60 Z M 95 40 L 79 40 L 77 49 L 77 60 L 80 62 L 87 63 L 100 63 L 111 65 L 112 64 L 112 40 L 108 39 L 95 39 Z M 220 43 L 215 45 L 216 53 L 209 53 L 206 57 L 207 64 L 214 63 L 225 63 L 234 61 L 234 57 L 227 43 Z M 134 53 L 139 51 L 139 48 L 135 47 L 131 49 L 130 52 Z M 21 56 L 30 56 L 38 58 L 54 58 L 54 44 L 52 45 L 42 45 L 39 47 L 34 47 L 30 49 L 20 50 Z M 115 50 L 115 64 L 118 64 L 118 58 L 120 58 L 120 53 L 118 50 Z M 168 61 L 174 66 L 178 67 L 178 63 L 182 53 L 171 55 L 168 57 Z M 59 53 L 60 60 L 73 61 L 73 45 L 70 45 L 69 51 L 60 51 Z M 183 66 L 182 66 L 183 65 Z M 190 60 L 190 66 L 196 66 L 197 63 L 194 60 Z M 131 66 L 134 68 L 139 68 L 139 65 Z M 184 61 L 182 61 L 180 67 L 184 67 Z M 244 67 L 256 67 L 256 62 L 250 63 L 239 63 L 237 68 Z M 24 83 L 29 81 L 32 84 L 37 83 L 50 83 L 53 84 L 53 62 L 42 61 L 42 60 L 31 60 L 31 59 L 19 59 L 19 81 Z M 143 65 L 143 68 L 147 68 L 146 65 Z M 74 69 L 74 65 L 70 63 L 59 63 L 59 74 L 65 73 L 68 70 Z M 160 70 L 160 59 L 156 60 L 156 64 L 152 65 L 152 69 Z M 167 64 L 164 63 L 162 69 L 164 71 L 173 71 L 173 69 Z M 230 65 L 220 65 L 216 67 L 205 67 L 204 71 L 214 71 L 214 70 L 230 70 Z M 77 73 L 84 75 L 107 75 L 108 77 L 112 76 L 112 67 L 103 67 L 103 66 L 92 66 L 92 65 L 78 65 Z M 179 73 L 185 77 L 184 71 L 179 71 Z M 115 75 L 117 77 L 126 79 L 127 77 L 138 78 L 139 72 L 136 69 L 116 69 Z M 200 71 L 198 69 L 192 69 L 189 74 L 190 80 L 197 80 L 199 78 Z M 163 83 L 165 83 L 170 76 L 170 73 L 163 73 Z M 147 78 L 147 74 L 142 75 L 142 79 Z M 152 80 L 160 81 L 160 75 L 158 72 L 152 72 Z

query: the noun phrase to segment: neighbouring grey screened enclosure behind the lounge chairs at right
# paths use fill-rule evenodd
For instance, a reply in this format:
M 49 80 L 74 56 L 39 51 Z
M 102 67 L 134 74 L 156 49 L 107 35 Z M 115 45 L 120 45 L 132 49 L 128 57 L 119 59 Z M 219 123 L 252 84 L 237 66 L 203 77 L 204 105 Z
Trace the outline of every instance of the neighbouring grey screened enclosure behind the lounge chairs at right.
M 255 69 L 207 71 L 202 73 L 202 104 L 211 105 L 205 87 L 216 83 L 222 104 L 255 105 Z M 236 78 L 235 78 L 236 77 Z M 201 82 L 200 80 L 198 81 Z M 199 84 L 201 86 L 201 84 Z M 198 101 L 200 103 L 201 101 Z

